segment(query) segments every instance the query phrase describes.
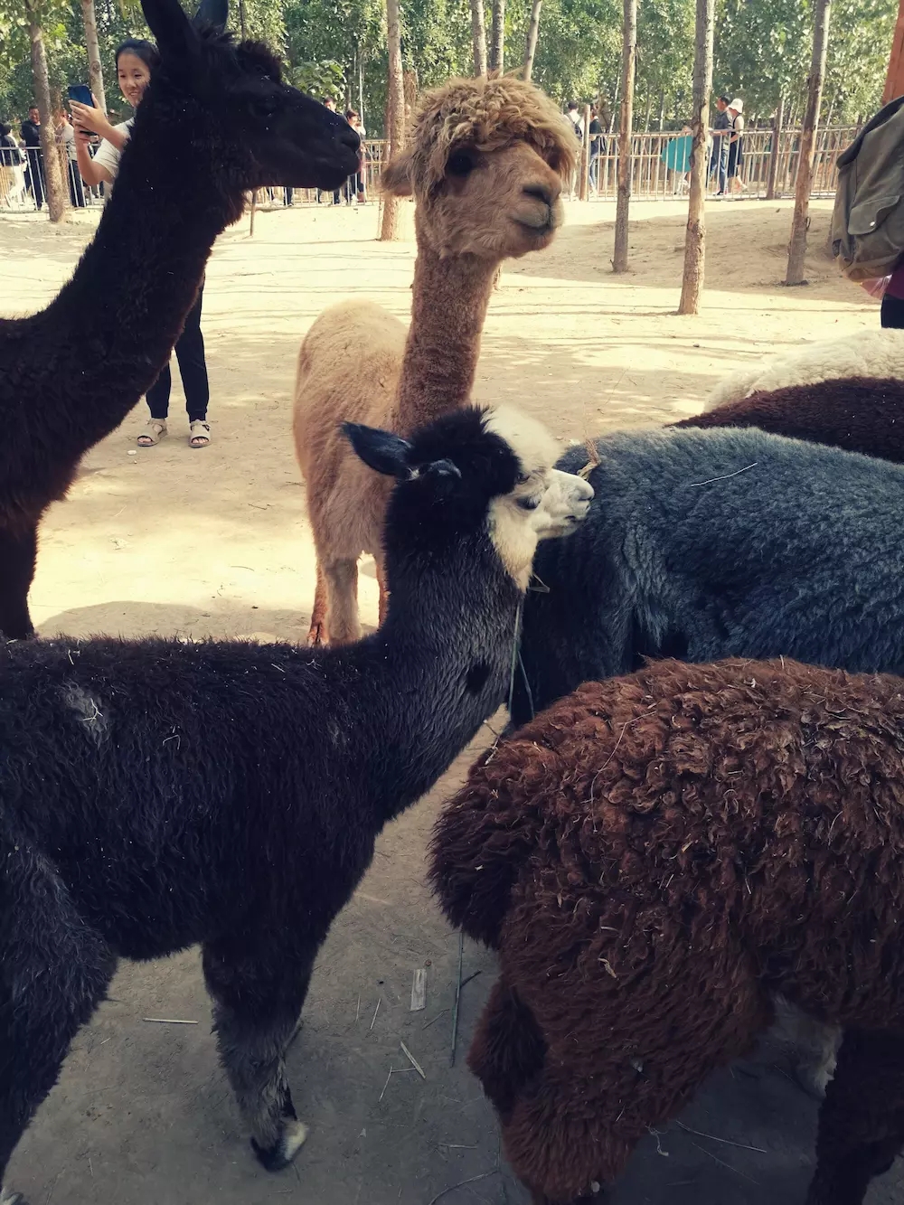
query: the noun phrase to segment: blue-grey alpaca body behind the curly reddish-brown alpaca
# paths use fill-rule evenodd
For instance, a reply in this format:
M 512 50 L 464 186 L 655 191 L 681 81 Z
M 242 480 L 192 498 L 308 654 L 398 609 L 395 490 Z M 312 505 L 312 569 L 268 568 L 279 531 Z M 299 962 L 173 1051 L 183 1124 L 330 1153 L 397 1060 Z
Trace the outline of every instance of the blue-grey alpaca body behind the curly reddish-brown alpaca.
M 644 657 L 904 674 L 899 465 L 752 428 L 622 431 L 595 453 L 587 522 L 536 557 L 516 723 Z

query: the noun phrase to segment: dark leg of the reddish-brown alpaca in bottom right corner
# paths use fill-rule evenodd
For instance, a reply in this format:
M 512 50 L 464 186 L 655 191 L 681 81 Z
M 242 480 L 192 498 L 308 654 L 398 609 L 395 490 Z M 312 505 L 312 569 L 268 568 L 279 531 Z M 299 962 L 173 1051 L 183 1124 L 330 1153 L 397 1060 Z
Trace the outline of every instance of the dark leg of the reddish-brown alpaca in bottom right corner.
M 806 1205 L 861 1205 L 904 1148 L 904 1034 L 846 1029 L 826 1088 Z

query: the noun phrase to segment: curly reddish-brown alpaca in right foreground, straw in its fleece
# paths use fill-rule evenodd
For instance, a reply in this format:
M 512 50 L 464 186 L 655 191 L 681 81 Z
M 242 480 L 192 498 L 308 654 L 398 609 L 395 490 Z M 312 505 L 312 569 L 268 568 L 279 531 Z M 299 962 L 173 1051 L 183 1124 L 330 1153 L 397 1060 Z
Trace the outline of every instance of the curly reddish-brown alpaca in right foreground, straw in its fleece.
M 673 660 L 582 686 L 479 763 L 432 878 L 499 952 L 470 1051 L 535 1201 L 588 1199 L 782 993 L 844 1027 L 808 1205 L 904 1146 L 904 683 Z

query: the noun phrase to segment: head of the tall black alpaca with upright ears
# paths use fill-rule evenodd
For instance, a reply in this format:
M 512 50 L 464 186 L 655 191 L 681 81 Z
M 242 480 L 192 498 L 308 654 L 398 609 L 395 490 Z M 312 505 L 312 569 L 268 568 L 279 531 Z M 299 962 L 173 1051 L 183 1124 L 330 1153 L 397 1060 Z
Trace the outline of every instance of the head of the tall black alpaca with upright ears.
M 358 135 L 337 113 L 282 82 L 260 42 L 224 33 L 228 0 L 201 0 L 189 20 L 178 0 L 141 0 L 160 52 L 139 118 L 184 122 L 213 151 L 229 195 L 266 184 L 337 187 L 358 161 Z M 174 166 L 177 170 L 177 166 Z

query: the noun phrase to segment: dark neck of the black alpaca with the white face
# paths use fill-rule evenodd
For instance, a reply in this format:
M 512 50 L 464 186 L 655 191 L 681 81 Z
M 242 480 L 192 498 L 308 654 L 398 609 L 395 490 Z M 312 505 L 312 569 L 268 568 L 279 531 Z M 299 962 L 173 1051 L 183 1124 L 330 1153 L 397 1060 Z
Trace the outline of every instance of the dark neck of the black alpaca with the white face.
M 358 751 L 377 829 L 433 787 L 509 692 L 521 592 L 489 540 L 415 568 L 409 582 L 391 566 L 386 622 L 336 651 L 366 699 Z

